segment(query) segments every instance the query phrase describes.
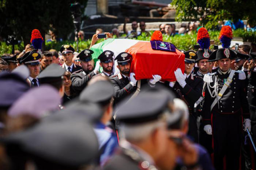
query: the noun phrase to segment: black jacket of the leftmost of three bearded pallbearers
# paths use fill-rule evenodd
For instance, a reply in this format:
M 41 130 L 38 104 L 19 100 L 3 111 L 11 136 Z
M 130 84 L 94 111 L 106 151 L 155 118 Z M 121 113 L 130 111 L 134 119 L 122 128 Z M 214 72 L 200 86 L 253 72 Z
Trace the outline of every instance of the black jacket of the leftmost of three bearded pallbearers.
M 82 90 L 87 86 L 88 81 L 95 76 L 94 71 L 85 72 L 83 69 L 73 72 L 71 74 L 72 88 L 76 93 L 76 96 L 80 94 Z

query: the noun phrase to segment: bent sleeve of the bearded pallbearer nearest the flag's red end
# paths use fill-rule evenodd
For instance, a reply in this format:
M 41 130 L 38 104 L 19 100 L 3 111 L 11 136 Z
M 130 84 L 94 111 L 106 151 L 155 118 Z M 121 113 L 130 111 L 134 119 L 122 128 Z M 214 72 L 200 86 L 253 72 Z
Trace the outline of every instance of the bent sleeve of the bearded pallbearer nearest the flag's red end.
M 110 79 L 110 81 L 114 87 L 115 98 L 121 98 L 124 95 L 128 95 L 134 89 L 133 85 L 131 85 L 130 83 L 128 83 L 124 88 L 120 88 L 119 84 L 116 82 L 115 79 Z

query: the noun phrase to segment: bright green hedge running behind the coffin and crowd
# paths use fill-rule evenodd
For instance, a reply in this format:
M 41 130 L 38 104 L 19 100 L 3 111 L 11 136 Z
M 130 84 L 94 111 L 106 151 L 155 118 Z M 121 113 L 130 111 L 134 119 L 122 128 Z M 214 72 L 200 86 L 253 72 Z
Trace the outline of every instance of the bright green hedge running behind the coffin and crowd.
M 150 35 L 153 33 L 153 31 L 150 32 Z M 220 44 L 218 36 L 219 36 L 219 31 L 209 31 L 210 37 L 212 40 L 214 40 L 215 44 Z M 249 41 L 256 43 L 256 32 L 252 31 L 244 31 L 242 29 L 235 30 L 233 32 L 234 37 L 242 37 L 244 41 Z M 125 35 L 123 35 L 125 36 Z M 141 36 L 137 37 L 138 40 L 150 40 L 150 36 L 146 36 L 146 34 L 142 34 Z M 98 42 L 103 41 L 103 39 L 100 39 Z M 192 33 L 191 35 L 175 35 L 173 37 L 169 37 L 164 35 L 163 36 L 163 41 L 170 42 L 174 44 L 178 49 L 180 50 L 190 50 L 194 49 L 194 44 L 196 44 L 196 32 Z M 5 42 L 0 42 L 0 55 L 3 55 L 4 53 L 11 53 L 11 46 L 7 46 Z M 45 50 L 50 50 L 50 49 L 56 49 L 60 50 L 60 47 L 62 44 L 69 44 L 72 47 L 76 49 L 77 45 L 75 41 L 61 41 L 61 42 L 46 42 L 46 48 Z M 80 41 L 78 44 L 79 51 L 82 51 L 86 48 L 89 48 L 91 44 L 91 39 L 85 40 L 85 41 Z M 211 46 L 210 48 L 213 48 Z M 21 43 L 19 45 L 15 46 L 15 50 L 20 50 L 22 51 L 24 49 L 24 44 Z

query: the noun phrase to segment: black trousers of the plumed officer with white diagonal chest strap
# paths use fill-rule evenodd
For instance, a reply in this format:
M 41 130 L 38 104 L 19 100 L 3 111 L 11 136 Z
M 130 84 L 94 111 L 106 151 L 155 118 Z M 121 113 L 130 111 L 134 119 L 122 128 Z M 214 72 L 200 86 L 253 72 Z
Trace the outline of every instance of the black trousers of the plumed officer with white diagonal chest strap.
M 213 112 L 214 167 L 223 169 L 226 156 L 226 170 L 238 170 L 241 148 L 242 118 L 240 114 L 219 114 Z

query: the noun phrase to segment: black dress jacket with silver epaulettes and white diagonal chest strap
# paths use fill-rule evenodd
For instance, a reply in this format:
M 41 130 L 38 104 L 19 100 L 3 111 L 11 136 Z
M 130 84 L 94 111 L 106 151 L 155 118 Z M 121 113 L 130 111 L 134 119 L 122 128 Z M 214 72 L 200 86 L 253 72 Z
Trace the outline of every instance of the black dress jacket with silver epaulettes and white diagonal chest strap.
M 228 79 L 231 70 L 226 74 L 223 74 L 221 71 L 215 72 L 212 76 L 213 82 L 210 83 L 210 86 L 214 86 L 215 79 L 218 83 L 218 93 L 221 91 L 221 88 L 224 86 L 224 80 Z M 211 92 L 213 88 L 210 88 Z M 217 94 L 218 95 L 218 94 Z M 211 111 L 211 104 L 215 98 L 211 98 L 209 90 L 206 86 L 205 88 L 205 102 L 203 104 L 202 117 L 205 124 L 211 124 L 211 113 L 219 114 L 241 114 L 243 118 L 249 118 L 249 106 L 246 98 L 245 91 L 245 80 L 239 79 L 239 73 L 235 72 L 232 82 L 229 84 L 229 87 L 226 89 L 219 104 L 215 104 L 213 110 Z

